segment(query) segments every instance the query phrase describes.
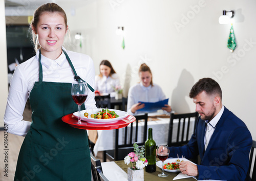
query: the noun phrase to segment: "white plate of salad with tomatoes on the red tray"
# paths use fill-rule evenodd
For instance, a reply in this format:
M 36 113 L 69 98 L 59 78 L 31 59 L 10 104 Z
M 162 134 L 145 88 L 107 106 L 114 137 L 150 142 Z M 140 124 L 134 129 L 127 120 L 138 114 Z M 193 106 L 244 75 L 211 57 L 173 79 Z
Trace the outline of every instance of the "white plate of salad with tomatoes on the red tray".
M 78 117 L 78 114 L 78 111 L 73 113 L 75 117 Z M 127 112 L 116 109 L 86 109 L 81 111 L 81 120 L 93 124 L 106 124 L 117 122 L 128 115 Z

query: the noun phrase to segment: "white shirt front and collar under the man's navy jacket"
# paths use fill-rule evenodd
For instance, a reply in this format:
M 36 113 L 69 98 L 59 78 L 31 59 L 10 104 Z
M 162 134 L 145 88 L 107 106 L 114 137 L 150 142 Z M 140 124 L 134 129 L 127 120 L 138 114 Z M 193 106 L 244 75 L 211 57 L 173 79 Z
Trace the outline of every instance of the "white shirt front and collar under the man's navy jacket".
M 206 126 L 205 136 L 204 136 L 204 150 L 206 150 L 210 142 L 210 138 L 212 134 L 214 134 L 215 127 L 219 122 L 223 111 L 224 111 L 224 106 L 222 105 L 220 112 L 214 118 L 212 118 L 210 122 L 208 120 L 205 120 L 205 123 L 207 123 L 207 126 Z

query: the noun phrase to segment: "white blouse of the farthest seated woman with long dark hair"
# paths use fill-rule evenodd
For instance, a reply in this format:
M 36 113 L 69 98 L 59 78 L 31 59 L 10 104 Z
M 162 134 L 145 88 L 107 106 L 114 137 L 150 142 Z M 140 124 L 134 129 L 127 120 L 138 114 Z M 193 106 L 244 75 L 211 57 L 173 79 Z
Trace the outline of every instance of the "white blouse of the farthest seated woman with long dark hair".
M 104 75 L 102 77 L 96 75 L 95 77 L 95 90 L 98 90 L 100 93 L 109 93 L 111 97 L 114 97 L 114 87 L 116 86 L 120 86 L 119 77 L 116 73 L 108 77 Z

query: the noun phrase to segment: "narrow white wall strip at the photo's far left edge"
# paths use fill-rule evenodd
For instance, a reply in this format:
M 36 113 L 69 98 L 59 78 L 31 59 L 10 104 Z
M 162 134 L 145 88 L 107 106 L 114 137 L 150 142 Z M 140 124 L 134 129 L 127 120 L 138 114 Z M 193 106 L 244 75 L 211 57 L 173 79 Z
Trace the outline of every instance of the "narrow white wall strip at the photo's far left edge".
M 8 96 L 8 71 L 7 71 L 7 49 L 6 49 L 6 28 L 5 28 L 5 1 L 0 0 L 0 127 L 4 127 L 4 114 Z

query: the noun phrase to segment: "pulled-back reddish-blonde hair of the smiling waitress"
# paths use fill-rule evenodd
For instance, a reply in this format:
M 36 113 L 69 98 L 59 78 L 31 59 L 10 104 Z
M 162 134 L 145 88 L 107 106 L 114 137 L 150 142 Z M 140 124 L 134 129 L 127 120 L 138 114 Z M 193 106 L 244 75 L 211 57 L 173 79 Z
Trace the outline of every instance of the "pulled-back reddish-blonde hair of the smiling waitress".
M 37 31 L 36 27 L 37 27 L 37 24 L 39 22 L 40 15 L 42 13 L 45 13 L 45 12 L 49 12 L 49 13 L 57 12 L 57 13 L 61 14 L 62 17 L 64 18 L 66 29 L 68 27 L 67 15 L 66 15 L 65 11 L 61 7 L 59 7 L 57 4 L 55 4 L 55 3 L 46 3 L 46 4 L 43 4 L 43 5 L 39 6 L 35 10 L 32 22 L 30 24 L 30 30 L 31 30 L 31 33 L 32 33 L 32 40 L 33 40 L 33 43 L 34 43 L 35 52 L 38 49 L 40 49 L 40 45 L 39 45 L 39 42 L 38 42 L 38 39 L 37 39 L 37 35 L 35 34 L 35 32 Z

